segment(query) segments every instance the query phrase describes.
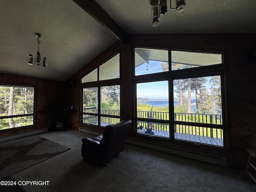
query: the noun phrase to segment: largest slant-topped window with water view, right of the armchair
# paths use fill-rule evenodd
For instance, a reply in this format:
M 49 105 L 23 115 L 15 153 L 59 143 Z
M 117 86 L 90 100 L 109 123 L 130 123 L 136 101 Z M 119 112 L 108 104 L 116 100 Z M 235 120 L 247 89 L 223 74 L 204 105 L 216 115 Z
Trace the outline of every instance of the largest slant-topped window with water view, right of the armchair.
M 145 48 L 134 54 L 137 133 L 226 146 L 222 54 Z

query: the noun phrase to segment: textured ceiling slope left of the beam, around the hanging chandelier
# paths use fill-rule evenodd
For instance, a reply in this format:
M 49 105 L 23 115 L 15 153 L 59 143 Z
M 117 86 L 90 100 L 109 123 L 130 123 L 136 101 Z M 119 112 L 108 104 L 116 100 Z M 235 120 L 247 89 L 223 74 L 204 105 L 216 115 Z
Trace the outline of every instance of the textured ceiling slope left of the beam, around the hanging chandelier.
M 64 81 L 116 41 L 72 0 L 1 0 L 0 9 L 0 72 Z M 27 64 L 36 32 L 47 68 Z

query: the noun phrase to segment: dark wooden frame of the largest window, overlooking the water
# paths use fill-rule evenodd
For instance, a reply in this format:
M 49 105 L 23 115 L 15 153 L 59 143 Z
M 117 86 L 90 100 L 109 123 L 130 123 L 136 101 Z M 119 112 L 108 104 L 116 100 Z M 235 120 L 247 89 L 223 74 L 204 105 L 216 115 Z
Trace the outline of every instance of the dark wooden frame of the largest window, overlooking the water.
M 141 47 L 134 47 L 133 51 L 135 54 L 135 48 L 141 48 Z M 143 47 L 144 48 L 144 47 Z M 148 48 L 148 47 L 147 47 Z M 154 49 L 162 49 L 166 50 L 165 48 L 154 48 Z M 186 51 L 186 52 L 199 52 L 199 53 L 210 53 L 210 54 L 221 54 L 222 55 L 222 62 L 220 64 L 213 64 L 213 65 L 208 65 L 208 66 L 199 66 L 195 68 L 186 68 L 186 69 L 180 69 L 180 70 L 172 70 L 172 59 L 171 59 L 171 52 L 175 51 Z M 207 145 L 210 147 L 218 147 L 218 148 L 227 148 L 228 146 L 228 119 L 227 119 L 227 100 L 226 100 L 226 84 L 227 84 L 227 72 L 226 72 L 226 64 L 224 63 L 224 52 L 216 52 L 216 51 L 198 51 L 198 50 L 180 50 L 180 49 L 173 49 L 169 48 L 168 49 L 168 65 L 169 65 L 169 71 L 165 72 L 160 72 L 156 74 L 145 74 L 145 75 L 140 75 L 140 76 L 135 76 L 135 64 L 134 66 L 134 75 L 133 75 L 133 84 L 134 84 L 134 127 L 135 127 L 135 134 L 139 134 L 140 136 L 148 137 L 147 134 L 141 134 L 136 130 L 137 128 L 137 122 L 138 121 L 148 121 L 147 118 L 138 118 L 137 117 L 137 84 L 138 83 L 143 83 L 143 82 L 155 82 L 155 81 L 162 81 L 162 80 L 167 80 L 169 84 L 169 132 L 170 136 L 168 138 L 166 137 L 160 137 L 160 136 L 152 136 L 154 138 L 158 138 L 161 140 L 170 140 L 172 142 L 186 142 L 186 143 L 191 143 L 195 144 L 195 142 L 190 142 L 186 140 L 179 140 L 174 138 L 174 126 L 176 124 L 185 124 L 185 125 L 194 125 L 192 122 L 183 122 L 183 121 L 176 121 L 174 120 L 174 88 L 173 88 L 173 80 L 176 79 L 184 79 L 184 78 L 196 78 L 196 77 L 207 77 L 207 76 L 220 76 L 220 83 L 221 83 L 221 100 L 222 100 L 222 125 L 216 125 L 216 124 L 204 124 L 204 123 L 196 123 L 196 126 L 204 126 L 204 127 L 210 127 L 210 128 L 220 128 L 222 129 L 223 132 L 223 146 L 215 146 L 215 145 L 209 145 L 209 144 L 203 144 L 202 145 Z M 135 63 L 135 56 L 134 56 L 134 63 Z M 155 120 L 155 119 L 150 119 L 150 122 L 160 122 L 160 123 L 166 123 L 166 120 Z

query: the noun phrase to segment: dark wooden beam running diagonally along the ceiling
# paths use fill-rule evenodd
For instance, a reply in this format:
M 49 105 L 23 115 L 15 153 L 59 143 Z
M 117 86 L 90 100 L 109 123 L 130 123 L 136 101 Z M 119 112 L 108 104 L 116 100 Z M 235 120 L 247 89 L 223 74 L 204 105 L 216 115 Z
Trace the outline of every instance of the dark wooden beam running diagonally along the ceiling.
M 90 16 L 111 32 L 124 44 L 128 41 L 128 34 L 110 17 L 110 15 L 95 0 L 73 0 Z

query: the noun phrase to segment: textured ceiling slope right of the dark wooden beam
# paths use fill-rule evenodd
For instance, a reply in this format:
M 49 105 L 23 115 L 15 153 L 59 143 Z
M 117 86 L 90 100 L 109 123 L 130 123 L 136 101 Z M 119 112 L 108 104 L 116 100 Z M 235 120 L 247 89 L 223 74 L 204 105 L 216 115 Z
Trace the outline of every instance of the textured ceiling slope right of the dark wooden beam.
M 186 0 L 182 12 L 171 10 L 167 0 L 168 12 L 157 27 L 148 0 L 96 1 L 129 34 L 256 32 L 255 0 Z

